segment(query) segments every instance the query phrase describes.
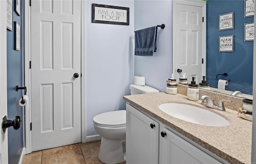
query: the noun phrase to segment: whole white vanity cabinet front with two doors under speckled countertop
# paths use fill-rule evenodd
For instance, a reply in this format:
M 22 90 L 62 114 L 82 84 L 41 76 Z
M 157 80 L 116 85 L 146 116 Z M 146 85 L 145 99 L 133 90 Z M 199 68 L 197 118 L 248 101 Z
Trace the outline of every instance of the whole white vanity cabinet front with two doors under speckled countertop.
M 151 128 L 150 124 L 155 126 Z M 193 141 L 189 143 L 186 141 L 189 139 L 185 140 L 184 136 L 181 138 L 182 135 L 172 131 L 170 127 L 126 104 L 126 164 L 227 163 L 202 147 L 200 150 L 191 144 Z

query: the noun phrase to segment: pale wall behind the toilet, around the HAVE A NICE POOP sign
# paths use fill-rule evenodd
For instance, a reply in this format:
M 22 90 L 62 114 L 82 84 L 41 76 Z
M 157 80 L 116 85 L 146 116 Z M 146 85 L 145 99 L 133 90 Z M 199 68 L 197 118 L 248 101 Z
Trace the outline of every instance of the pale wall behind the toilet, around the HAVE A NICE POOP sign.
M 130 8 L 130 25 L 92 22 L 92 3 Z M 125 109 L 134 77 L 134 1 L 86 0 L 86 135 L 97 134 L 93 117 Z

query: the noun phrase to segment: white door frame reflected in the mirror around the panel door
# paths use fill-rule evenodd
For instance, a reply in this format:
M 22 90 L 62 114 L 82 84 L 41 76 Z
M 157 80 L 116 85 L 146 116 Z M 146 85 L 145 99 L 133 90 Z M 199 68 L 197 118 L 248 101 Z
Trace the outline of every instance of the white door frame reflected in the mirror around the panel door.
M 204 59 L 204 64 L 202 64 L 202 75 L 206 75 L 206 2 L 202 0 L 173 0 L 172 3 L 172 24 L 176 22 L 176 5 L 177 4 L 184 4 L 184 5 L 192 5 L 192 6 L 198 6 L 203 8 L 203 17 L 204 17 L 204 23 L 203 23 L 203 46 L 202 46 L 202 57 Z M 172 73 L 175 74 L 176 72 L 176 27 L 172 25 Z M 176 77 L 177 78 L 177 77 Z

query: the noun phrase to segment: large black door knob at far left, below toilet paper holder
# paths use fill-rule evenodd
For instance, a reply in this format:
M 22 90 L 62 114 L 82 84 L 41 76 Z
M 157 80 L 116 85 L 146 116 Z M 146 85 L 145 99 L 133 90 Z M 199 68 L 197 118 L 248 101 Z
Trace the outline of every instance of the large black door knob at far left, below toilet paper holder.
M 21 125 L 20 116 L 17 115 L 16 117 L 14 117 L 14 119 L 12 121 L 8 120 L 7 117 L 4 116 L 3 121 L 2 121 L 2 130 L 4 133 L 6 132 L 6 129 L 8 127 L 13 127 L 13 129 L 18 130 L 18 129 L 20 129 L 20 125 Z

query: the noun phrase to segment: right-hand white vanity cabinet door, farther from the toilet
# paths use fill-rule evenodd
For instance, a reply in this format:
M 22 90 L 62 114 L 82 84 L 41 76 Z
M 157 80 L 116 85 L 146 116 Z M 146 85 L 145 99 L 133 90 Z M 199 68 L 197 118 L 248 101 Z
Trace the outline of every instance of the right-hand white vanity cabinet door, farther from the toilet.
M 160 164 L 220 164 L 219 161 L 168 129 L 163 127 L 161 132 L 166 135 L 160 136 Z

